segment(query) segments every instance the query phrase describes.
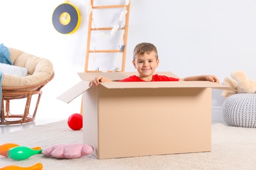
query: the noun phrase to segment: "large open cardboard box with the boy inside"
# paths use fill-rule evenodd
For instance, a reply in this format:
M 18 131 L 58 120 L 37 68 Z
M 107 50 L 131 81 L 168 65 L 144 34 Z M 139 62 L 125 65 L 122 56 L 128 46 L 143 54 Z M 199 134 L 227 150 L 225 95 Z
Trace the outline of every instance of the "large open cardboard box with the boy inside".
M 83 143 L 98 159 L 211 151 L 211 89 L 208 81 L 105 82 L 137 73 L 79 73 L 81 82 L 58 97 L 69 103 L 83 93 Z M 175 76 L 173 73 L 159 75 Z

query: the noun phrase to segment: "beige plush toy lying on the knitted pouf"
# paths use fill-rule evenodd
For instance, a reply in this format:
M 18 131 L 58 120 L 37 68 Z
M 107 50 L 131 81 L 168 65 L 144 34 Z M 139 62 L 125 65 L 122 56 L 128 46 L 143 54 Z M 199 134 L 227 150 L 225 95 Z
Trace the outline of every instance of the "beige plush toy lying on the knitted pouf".
M 231 78 L 224 78 L 223 84 L 230 88 L 233 88 L 234 91 L 231 90 L 223 90 L 221 93 L 224 97 L 229 97 L 235 93 L 256 93 L 256 82 L 251 78 L 247 78 L 244 71 L 236 70 L 231 73 Z

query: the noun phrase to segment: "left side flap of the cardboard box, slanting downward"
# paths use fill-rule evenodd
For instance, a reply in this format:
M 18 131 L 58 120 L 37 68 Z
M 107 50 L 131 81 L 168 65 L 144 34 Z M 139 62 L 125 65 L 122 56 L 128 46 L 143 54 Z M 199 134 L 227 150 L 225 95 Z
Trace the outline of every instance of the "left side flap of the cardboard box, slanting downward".
M 70 103 L 75 97 L 78 95 L 81 95 L 81 93 L 85 92 L 89 87 L 88 81 L 81 81 L 66 92 L 62 93 L 57 97 L 57 99 L 60 99 L 61 101 L 64 101 L 66 103 Z

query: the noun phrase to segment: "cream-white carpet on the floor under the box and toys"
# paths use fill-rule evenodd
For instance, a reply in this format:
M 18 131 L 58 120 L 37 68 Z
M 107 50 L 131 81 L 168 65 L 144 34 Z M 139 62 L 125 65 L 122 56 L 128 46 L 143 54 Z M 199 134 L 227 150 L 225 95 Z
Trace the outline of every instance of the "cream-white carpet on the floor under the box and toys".
M 71 130 L 66 120 L 0 135 L 0 144 L 17 143 L 23 146 L 82 143 L 82 130 Z M 0 167 L 28 167 L 42 163 L 43 169 L 256 169 L 256 129 L 212 125 L 212 151 L 192 154 L 170 154 L 97 160 L 83 156 L 73 160 L 49 158 L 42 154 L 16 161 L 0 156 Z

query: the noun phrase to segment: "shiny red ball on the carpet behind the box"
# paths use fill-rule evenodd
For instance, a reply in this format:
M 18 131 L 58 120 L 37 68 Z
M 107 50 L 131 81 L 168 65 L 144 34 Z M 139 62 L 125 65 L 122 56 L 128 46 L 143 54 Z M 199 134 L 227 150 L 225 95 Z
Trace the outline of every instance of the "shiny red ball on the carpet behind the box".
M 73 130 L 83 128 L 83 116 L 79 113 L 71 114 L 68 118 L 68 126 Z

